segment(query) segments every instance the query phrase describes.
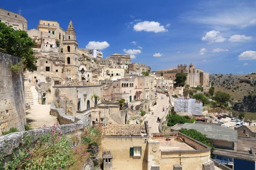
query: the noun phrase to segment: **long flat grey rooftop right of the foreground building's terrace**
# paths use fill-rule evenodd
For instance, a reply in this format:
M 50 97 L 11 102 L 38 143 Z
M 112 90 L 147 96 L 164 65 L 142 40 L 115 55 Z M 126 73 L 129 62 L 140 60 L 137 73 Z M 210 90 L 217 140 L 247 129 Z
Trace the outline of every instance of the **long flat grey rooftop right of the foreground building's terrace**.
M 195 129 L 198 132 L 206 135 L 208 139 L 237 142 L 237 131 L 229 129 L 227 127 L 185 123 L 181 126 L 181 128 Z

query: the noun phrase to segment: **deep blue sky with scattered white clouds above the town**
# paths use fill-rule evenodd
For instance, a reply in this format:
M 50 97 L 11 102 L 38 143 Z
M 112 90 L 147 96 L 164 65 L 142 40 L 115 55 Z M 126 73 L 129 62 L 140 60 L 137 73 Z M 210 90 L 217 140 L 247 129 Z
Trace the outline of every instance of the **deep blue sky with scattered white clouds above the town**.
M 28 29 L 42 19 L 66 30 L 72 17 L 80 48 L 97 47 L 104 58 L 131 54 L 152 71 L 193 62 L 211 74 L 256 72 L 255 0 L 12 0 L 1 7 L 21 7 Z

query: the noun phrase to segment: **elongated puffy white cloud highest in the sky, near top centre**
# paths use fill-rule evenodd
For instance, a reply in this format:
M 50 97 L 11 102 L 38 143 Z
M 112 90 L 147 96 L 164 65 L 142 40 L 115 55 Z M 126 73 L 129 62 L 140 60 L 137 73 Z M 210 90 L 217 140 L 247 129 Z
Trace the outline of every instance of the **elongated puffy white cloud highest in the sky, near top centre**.
M 160 26 L 160 23 L 154 21 L 143 21 L 134 25 L 135 31 L 147 31 L 147 32 L 167 32 L 168 29 L 164 28 L 164 26 Z

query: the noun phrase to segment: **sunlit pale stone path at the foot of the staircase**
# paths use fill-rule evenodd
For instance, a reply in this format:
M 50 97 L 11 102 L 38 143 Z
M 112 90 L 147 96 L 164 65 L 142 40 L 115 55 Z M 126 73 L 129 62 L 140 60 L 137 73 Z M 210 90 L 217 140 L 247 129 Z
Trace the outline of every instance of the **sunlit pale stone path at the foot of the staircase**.
M 30 105 L 30 109 L 26 111 L 27 124 L 32 128 L 52 126 L 56 124 L 57 117 L 50 115 L 51 105 Z

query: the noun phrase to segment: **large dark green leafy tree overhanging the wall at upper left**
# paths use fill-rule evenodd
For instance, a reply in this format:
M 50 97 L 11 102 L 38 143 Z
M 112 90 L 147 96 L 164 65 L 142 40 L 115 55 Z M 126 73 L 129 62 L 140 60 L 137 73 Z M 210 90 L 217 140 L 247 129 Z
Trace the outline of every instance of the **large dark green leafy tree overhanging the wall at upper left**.
M 23 71 L 36 71 L 37 66 L 33 55 L 32 47 L 35 41 L 32 40 L 26 31 L 14 30 L 12 26 L 0 23 L 0 52 L 10 54 L 22 59 L 14 68 L 23 68 Z

